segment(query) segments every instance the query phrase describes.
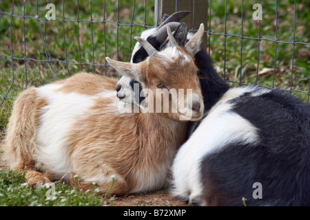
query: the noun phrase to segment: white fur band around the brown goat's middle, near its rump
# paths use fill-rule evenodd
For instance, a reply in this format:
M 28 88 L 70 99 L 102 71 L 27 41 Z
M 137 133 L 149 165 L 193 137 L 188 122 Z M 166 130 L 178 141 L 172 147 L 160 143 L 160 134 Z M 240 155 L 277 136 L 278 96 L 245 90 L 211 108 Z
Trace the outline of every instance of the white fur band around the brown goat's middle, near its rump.
M 54 92 L 56 87 L 46 85 L 37 88 L 38 98 L 47 100 L 48 105 L 41 109 L 35 149 L 39 168 L 61 178 L 70 172 L 68 146 L 65 145 L 68 132 L 72 124 L 94 104 L 94 99 L 80 94 L 60 94 Z

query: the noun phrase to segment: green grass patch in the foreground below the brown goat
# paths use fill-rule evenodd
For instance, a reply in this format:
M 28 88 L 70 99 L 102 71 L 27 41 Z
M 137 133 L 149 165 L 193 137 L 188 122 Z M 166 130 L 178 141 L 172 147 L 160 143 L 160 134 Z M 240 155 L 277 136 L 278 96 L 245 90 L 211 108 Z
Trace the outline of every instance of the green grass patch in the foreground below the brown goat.
M 81 192 L 59 182 L 52 187 L 29 188 L 25 172 L 0 170 L 0 206 L 103 206 L 106 197 L 98 195 L 96 188 Z

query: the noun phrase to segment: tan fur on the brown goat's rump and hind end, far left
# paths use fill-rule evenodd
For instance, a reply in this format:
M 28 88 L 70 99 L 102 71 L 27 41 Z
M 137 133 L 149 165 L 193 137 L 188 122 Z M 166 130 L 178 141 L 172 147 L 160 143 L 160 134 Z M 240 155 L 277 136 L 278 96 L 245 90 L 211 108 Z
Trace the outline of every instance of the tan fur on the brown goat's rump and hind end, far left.
M 37 92 L 30 88 L 20 94 L 14 103 L 12 117 L 8 124 L 8 135 L 2 146 L 3 159 L 9 162 L 13 170 L 27 169 L 25 180 L 29 186 L 50 182 L 48 177 L 37 172 L 35 168 L 34 140 L 35 130 L 39 125 L 39 110 L 48 103 L 44 99 L 37 99 Z

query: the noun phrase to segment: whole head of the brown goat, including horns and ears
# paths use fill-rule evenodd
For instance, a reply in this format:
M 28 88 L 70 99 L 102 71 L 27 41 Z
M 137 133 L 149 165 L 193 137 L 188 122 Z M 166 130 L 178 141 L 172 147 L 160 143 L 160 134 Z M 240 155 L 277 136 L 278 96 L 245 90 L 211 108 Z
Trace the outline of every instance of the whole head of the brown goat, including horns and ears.
M 107 62 L 118 73 L 141 83 L 145 110 L 174 120 L 199 120 L 204 106 L 193 56 L 199 50 L 203 28 L 201 24 L 185 47 L 180 47 L 167 27 L 169 47 L 161 52 L 144 39 L 135 37 L 149 54 L 145 61 L 123 63 L 107 58 Z

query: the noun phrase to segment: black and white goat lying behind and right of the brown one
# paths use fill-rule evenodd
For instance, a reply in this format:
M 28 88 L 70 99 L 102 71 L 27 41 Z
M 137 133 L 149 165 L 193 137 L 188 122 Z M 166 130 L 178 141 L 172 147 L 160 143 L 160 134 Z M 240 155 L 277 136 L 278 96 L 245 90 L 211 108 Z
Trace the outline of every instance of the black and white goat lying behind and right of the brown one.
M 132 62 L 143 58 L 136 50 Z M 174 195 L 207 206 L 242 206 L 242 198 L 248 206 L 310 206 L 309 104 L 277 89 L 229 88 L 203 50 L 195 60 L 205 118 L 174 159 Z

